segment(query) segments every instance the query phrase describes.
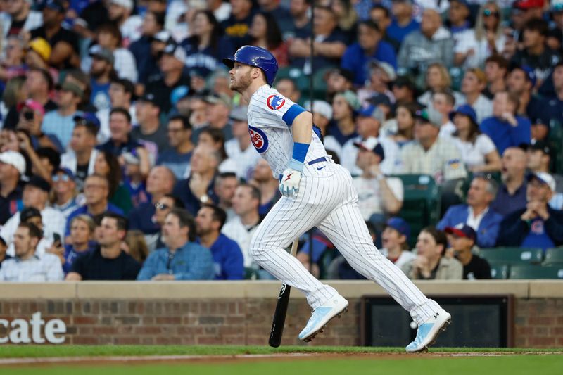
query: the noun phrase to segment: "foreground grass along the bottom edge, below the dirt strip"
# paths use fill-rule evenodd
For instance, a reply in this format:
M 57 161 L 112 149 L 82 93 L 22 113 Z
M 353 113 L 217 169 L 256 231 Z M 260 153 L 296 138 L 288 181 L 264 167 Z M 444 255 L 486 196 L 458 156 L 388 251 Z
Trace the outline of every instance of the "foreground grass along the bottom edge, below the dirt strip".
M 12 367 L 0 369 L 10 375 L 559 375 L 562 356 L 518 355 L 503 357 L 414 357 L 403 360 L 377 357 L 335 360 L 260 360 L 258 362 L 195 363 L 195 364 L 134 364 Z

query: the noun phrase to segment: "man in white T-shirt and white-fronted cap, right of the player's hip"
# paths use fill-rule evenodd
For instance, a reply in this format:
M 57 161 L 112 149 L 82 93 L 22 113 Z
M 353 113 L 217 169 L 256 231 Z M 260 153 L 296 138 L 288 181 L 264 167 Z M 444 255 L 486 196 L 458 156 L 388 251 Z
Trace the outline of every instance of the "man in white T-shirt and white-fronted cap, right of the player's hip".
M 358 148 L 356 165 L 362 170 L 362 174 L 353 179 L 360 212 L 365 221 L 385 222 L 383 214 L 394 215 L 403 205 L 403 182 L 385 177 L 381 172 L 380 163 L 385 153 L 376 138 L 369 137 L 354 145 Z

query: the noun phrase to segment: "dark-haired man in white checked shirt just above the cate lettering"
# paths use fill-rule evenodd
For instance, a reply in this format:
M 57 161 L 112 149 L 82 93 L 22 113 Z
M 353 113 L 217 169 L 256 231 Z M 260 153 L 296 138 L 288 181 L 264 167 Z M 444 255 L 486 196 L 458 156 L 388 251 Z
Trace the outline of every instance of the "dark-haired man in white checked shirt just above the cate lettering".
M 53 254 L 35 253 L 41 237 L 41 230 L 34 224 L 18 225 L 13 236 L 15 257 L 2 262 L 0 281 L 63 281 L 61 260 Z

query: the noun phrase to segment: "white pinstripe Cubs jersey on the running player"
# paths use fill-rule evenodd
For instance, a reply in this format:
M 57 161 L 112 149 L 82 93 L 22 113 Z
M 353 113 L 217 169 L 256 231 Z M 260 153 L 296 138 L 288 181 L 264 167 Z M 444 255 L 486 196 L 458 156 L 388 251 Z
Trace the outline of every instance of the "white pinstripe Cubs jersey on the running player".
M 248 104 L 248 133 L 262 158 L 270 164 L 275 178 L 286 170 L 293 152 L 293 119 L 305 109 L 266 84 L 258 89 Z M 312 132 L 305 164 L 318 158 L 327 158 L 327 151 Z M 327 158 L 328 160 L 328 158 Z

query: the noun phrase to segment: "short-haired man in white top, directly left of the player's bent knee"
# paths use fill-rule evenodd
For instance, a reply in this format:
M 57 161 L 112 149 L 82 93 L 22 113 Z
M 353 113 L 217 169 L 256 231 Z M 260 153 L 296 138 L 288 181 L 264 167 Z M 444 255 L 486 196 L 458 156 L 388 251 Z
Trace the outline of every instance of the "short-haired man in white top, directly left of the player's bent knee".
M 236 215 L 225 223 L 221 230 L 222 234 L 239 244 L 246 268 L 255 265 L 250 255 L 250 243 L 260 224 L 259 206 L 260 191 L 258 188 L 250 184 L 240 184 L 233 197 L 233 210 Z M 255 266 L 258 267 L 258 265 Z

